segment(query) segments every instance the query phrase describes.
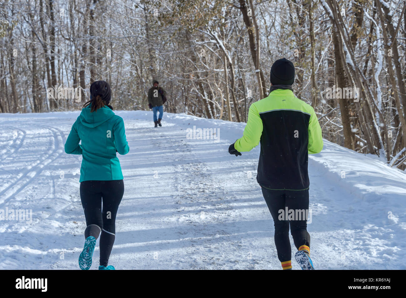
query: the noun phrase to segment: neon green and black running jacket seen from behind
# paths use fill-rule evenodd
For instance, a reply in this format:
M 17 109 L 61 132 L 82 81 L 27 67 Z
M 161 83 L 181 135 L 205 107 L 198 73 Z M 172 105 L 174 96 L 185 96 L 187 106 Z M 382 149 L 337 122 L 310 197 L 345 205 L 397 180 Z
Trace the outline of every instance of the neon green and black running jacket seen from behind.
M 268 189 L 304 190 L 309 187 L 308 154 L 323 148 L 322 130 L 313 107 L 291 90 L 277 89 L 253 103 L 243 136 L 235 141 L 240 152 L 261 142 L 257 181 Z

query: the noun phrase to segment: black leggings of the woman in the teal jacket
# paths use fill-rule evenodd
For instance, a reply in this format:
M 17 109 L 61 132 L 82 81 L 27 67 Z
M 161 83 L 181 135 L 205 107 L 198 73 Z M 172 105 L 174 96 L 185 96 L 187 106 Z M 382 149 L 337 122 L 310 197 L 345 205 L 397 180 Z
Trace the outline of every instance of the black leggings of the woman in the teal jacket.
M 116 233 L 116 215 L 124 194 L 123 180 L 80 182 L 80 199 L 86 218 L 84 238 L 100 236 L 100 265 L 107 266 Z M 103 208 L 102 208 L 103 202 Z

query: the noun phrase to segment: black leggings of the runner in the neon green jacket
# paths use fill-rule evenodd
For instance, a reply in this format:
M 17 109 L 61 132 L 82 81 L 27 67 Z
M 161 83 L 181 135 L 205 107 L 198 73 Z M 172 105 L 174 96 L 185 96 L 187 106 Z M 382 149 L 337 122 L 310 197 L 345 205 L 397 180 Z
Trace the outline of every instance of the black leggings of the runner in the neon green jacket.
M 289 223 L 296 248 L 299 249 L 302 245 L 310 247 L 307 213 L 302 212 L 309 210 L 309 189 L 304 191 L 275 191 L 262 187 L 262 194 L 274 219 L 275 246 L 279 261 L 290 261 L 292 251 L 289 241 Z M 286 212 L 286 207 L 288 212 Z M 289 210 L 294 210 L 294 215 L 290 213 L 292 217 L 289 217 Z M 286 213 L 287 215 L 285 215 Z

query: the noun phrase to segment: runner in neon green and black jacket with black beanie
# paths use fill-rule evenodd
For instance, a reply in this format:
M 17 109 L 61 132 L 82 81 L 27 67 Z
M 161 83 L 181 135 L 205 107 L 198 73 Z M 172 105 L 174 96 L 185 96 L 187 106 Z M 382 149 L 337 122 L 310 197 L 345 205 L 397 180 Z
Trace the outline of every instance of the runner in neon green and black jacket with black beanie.
M 322 130 L 313 107 L 294 96 L 294 78 L 291 61 L 283 58 L 274 62 L 270 94 L 251 105 L 244 134 L 230 145 L 229 153 L 241 155 L 261 142 L 257 182 L 274 220 L 275 246 L 282 269 L 292 270 L 290 224 L 298 249 L 296 261 L 303 270 L 314 270 L 307 232 L 307 164 L 308 154 L 323 148 Z M 285 214 L 286 210 L 290 215 Z

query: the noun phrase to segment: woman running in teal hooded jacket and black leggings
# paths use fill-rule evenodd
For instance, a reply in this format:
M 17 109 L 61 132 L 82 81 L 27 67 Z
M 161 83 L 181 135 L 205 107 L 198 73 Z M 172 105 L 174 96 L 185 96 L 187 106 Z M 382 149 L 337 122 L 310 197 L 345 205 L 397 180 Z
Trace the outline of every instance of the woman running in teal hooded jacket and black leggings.
M 92 265 L 100 234 L 99 270 L 115 270 L 107 264 L 115 239 L 116 214 L 124 194 L 123 173 L 116 154 L 127 154 L 130 148 L 123 118 L 114 115 L 110 99 L 107 82 L 95 81 L 90 86 L 90 101 L 83 105 L 65 144 L 66 153 L 82 154 L 83 157 L 79 182 L 87 227 L 84 248 L 79 256 L 82 270 L 89 270 Z

